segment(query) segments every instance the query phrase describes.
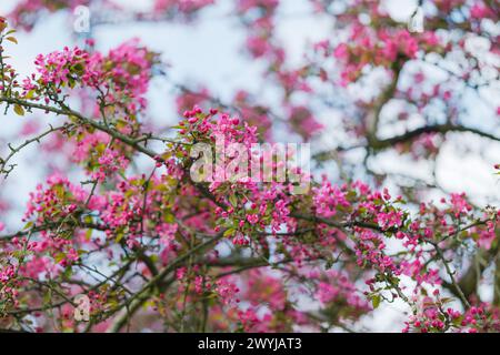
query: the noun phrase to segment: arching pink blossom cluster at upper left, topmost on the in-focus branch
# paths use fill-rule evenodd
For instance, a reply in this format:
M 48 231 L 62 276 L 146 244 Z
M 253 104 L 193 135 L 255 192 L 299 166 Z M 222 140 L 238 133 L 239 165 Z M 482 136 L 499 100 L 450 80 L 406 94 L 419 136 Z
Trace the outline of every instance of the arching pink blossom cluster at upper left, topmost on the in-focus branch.
M 59 95 L 66 87 L 97 89 L 101 92 L 99 105 L 123 106 L 126 119 L 147 104 L 146 93 L 152 67 L 157 55 L 139 44 L 138 40 L 128 41 L 108 55 L 100 52 L 89 53 L 78 47 L 64 48 L 47 55 L 37 57 L 37 73 L 22 82 L 23 95 L 28 99 L 43 98 L 49 102 L 52 95 Z

